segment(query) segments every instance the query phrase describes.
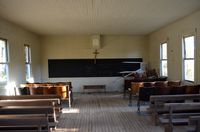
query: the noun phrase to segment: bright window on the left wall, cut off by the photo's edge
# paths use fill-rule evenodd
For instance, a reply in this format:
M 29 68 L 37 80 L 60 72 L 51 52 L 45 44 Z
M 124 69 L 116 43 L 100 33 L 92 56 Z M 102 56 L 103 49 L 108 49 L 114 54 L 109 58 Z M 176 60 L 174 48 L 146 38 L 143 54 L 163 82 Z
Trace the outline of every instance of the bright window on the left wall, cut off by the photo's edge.
M 0 39 L 0 83 L 8 80 L 8 50 L 7 40 Z

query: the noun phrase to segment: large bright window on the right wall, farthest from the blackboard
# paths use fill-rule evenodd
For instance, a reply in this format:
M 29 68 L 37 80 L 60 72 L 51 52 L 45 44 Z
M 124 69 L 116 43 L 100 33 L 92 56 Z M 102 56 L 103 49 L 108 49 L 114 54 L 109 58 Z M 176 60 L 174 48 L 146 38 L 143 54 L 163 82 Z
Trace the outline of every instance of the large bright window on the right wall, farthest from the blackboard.
M 194 49 L 195 38 L 194 36 L 183 38 L 183 71 L 184 80 L 194 81 Z

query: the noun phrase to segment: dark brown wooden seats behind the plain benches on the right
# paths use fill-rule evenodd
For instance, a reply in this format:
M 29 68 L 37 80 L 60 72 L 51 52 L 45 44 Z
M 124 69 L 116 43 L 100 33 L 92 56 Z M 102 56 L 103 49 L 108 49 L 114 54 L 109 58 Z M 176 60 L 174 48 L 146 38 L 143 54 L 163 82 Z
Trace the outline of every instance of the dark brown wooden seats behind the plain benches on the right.
M 132 83 L 132 87 L 129 89 L 129 105 L 132 105 L 132 95 L 137 97 L 138 111 L 140 111 L 141 102 L 148 102 L 152 95 L 198 94 L 200 90 L 200 85 L 179 86 L 180 81 L 166 82 L 167 81 Z

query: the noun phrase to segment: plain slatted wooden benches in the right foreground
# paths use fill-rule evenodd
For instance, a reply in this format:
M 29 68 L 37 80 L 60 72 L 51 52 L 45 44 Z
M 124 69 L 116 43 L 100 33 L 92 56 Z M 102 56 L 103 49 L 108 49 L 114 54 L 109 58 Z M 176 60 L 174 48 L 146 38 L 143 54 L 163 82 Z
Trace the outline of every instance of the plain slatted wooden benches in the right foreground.
M 175 125 L 187 125 L 188 131 L 200 132 L 200 94 L 154 95 L 149 111 L 155 125 L 173 132 Z

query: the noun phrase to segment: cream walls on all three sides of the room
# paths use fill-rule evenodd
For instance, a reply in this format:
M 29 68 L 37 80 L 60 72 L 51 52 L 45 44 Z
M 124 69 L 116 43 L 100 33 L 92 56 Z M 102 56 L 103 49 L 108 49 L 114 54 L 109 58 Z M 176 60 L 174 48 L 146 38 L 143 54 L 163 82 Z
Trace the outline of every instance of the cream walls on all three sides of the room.
M 197 29 L 196 83 L 200 83 L 200 11 L 153 32 L 149 36 L 102 35 L 102 47 L 98 58 L 141 57 L 144 62 L 149 63 L 150 68 L 159 70 L 159 46 L 167 40 L 169 79 L 182 79 L 182 37 L 195 34 L 195 29 Z M 72 81 L 74 91 L 81 91 L 83 84 L 91 83 L 104 83 L 110 91 L 119 91 L 123 88 L 123 78 L 120 77 L 48 78 L 48 59 L 94 58 L 90 35 L 39 38 L 0 18 L 0 37 L 9 42 L 9 81 L 17 85 L 25 82 L 23 46 L 29 44 L 32 49 L 32 72 L 35 81 Z M 0 93 L 2 94 L 1 91 Z

